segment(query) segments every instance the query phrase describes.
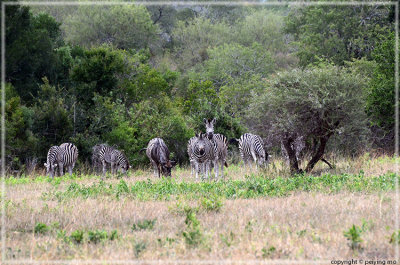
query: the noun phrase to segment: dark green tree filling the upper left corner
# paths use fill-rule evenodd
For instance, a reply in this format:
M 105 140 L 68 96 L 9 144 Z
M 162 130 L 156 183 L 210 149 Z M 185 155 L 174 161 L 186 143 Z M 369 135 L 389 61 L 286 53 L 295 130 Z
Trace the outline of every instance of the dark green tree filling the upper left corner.
M 22 102 L 38 93 L 43 77 L 66 78 L 59 72 L 55 49 L 62 46 L 59 23 L 47 14 L 33 16 L 28 7 L 6 8 L 6 81 Z

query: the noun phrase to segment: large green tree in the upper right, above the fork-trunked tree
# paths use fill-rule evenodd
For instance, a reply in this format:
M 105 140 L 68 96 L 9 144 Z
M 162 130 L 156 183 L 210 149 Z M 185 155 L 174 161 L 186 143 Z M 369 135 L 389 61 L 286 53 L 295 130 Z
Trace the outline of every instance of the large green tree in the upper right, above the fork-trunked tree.
M 308 6 L 294 8 L 285 30 L 292 34 L 302 67 L 319 58 L 343 65 L 368 57 L 390 27 L 386 6 Z M 343 18 L 346 19 L 343 19 Z

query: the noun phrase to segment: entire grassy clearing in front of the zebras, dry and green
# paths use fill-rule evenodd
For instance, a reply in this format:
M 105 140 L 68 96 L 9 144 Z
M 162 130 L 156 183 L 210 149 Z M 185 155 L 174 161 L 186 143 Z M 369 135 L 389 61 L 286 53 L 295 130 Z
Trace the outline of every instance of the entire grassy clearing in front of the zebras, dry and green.
M 395 162 L 361 157 L 285 177 L 276 160 L 260 172 L 232 165 L 218 182 L 197 182 L 185 168 L 173 179 L 146 170 L 104 180 L 11 177 L 5 254 L 12 260 L 389 259 L 400 234 Z

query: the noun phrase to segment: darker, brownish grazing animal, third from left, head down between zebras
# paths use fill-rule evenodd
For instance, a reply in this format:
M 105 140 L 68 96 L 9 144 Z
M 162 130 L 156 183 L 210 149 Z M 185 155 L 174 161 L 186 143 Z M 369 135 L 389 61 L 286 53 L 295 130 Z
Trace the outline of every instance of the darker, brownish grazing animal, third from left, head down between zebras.
M 164 140 L 161 138 L 151 139 L 145 150 L 154 167 L 154 175 L 157 176 L 158 172 L 158 177 L 161 177 L 161 173 L 164 176 L 171 177 L 171 169 L 176 165 L 176 162 L 169 159 L 169 150 Z

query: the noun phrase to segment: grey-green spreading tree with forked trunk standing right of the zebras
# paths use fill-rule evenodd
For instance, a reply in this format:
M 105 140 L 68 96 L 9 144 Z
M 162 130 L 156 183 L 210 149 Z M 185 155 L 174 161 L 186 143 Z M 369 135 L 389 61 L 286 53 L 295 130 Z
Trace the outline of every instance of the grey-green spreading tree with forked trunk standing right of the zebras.
M 302 171 L 293 142 L 303 136 L 312 143 L 305 168 L 310 172 L 323 158 L 333 134 L 358 134 L 358 140 L 363 140 L 367 122 L 360 107 L 365 105 L 362 91 L 366 91 L 365 79 L 345 68 L 320 65 L 294 69 L 267 81 L 265 92 L 254 97 L 248 119 L 261 135 L 282 142 L 293 173 Z

